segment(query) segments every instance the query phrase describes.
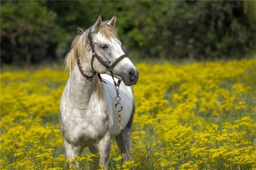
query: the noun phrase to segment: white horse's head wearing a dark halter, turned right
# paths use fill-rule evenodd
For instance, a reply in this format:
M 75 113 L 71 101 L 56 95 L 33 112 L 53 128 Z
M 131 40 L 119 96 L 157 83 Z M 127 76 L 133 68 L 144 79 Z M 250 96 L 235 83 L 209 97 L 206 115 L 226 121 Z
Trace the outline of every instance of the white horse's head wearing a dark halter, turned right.
M 134 85 L 138 81 L 139 71 L 122 50 L 115 24 L 116 16 L 113 16 L 110 21 L 102 22 L 100 15 L 89 29 L 88 35 L 91 36 L 89 44 L 93 53 L 90 59 L 91 66 L 97 73 L 116 77 L 127 86 Z M 93 55 L 96 57 L 94 58 Z

